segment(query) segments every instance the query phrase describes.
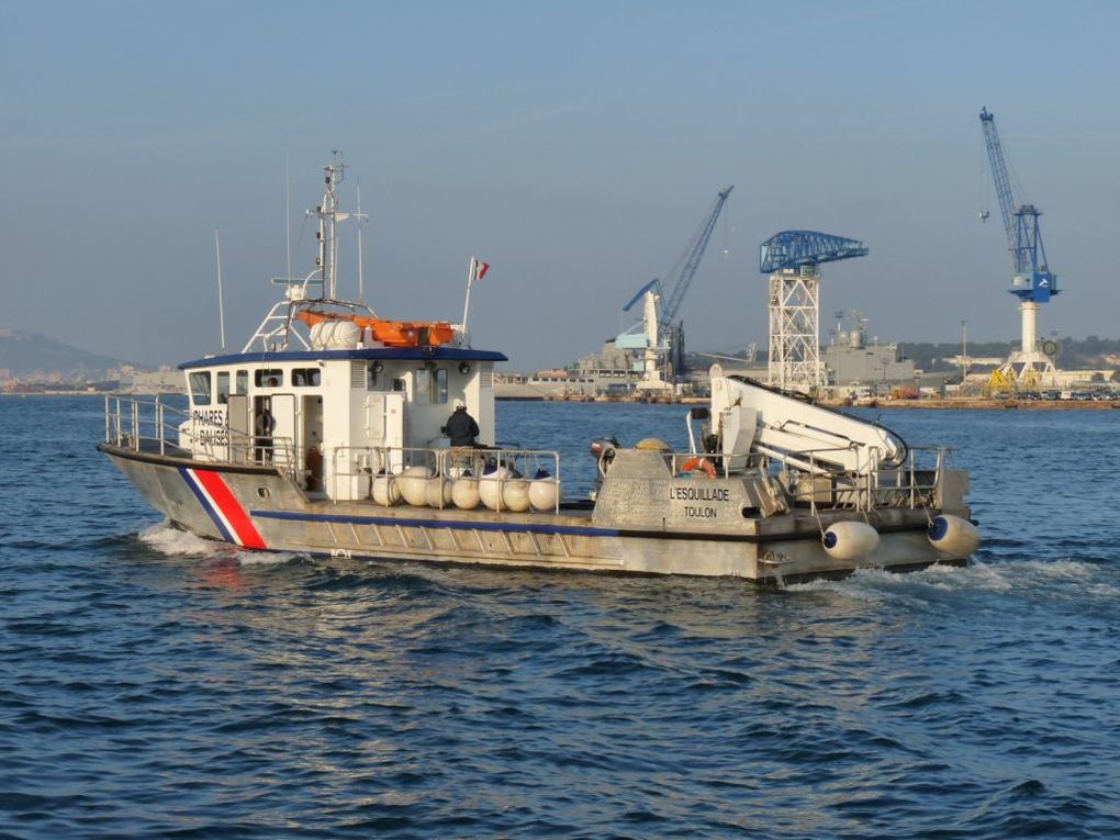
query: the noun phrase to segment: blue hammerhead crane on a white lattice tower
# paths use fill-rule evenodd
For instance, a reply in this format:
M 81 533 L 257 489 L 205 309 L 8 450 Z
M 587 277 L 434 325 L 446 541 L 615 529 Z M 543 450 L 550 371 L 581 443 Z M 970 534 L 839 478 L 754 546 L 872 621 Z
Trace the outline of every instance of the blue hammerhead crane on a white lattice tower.
M 867 256 L 859 240 L 819 231 L 782 231 L 762 244 L 759 271 L 769 274 L 769 384 L 812 392 L 821 368 L 821 263 Z

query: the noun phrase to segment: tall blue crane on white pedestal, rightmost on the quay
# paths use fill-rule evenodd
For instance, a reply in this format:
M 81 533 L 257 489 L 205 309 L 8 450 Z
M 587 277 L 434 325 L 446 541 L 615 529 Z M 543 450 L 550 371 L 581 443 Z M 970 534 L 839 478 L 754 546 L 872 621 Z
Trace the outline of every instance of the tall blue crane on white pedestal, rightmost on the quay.
M 1011 256 L 1011 288 L 1008 291 L 1019 299 L 1019 312 L 1023 318 L 1021 347 L 1019 352 L 1012 352 L 1002 367 L 992 374 L 989 389 L 1001 391 L 1037 388 L 1042 384 L 1040 373 L 1048 375 L 1051 383 L 1056 373 L 1054 354 L 1044 353 L 1038 346 L 1038 305 L 1048 302 L 1061 289 L 1057 276 L 1049 270 L 1046 261 L 1046 248 L 1043 245 L 1043 235 L 1038 227 L 1042 211 L 1033 204 L 1024 203 L 1016 206 L 1004 148 L 996 130 L 996 115 L 989 113 L 987 108 L 980 110 L 980 125 L 983 128 L 991 177 L 996 183 L 999 213 Z M 981 221 L 987 218 L 987 215 L 981 213 Z

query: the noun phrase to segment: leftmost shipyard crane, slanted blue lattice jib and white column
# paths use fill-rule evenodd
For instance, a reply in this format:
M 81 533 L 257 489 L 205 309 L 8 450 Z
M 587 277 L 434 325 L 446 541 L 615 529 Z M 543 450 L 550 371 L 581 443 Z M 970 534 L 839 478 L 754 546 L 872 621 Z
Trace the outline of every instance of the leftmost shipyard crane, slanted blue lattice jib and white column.
M 657 366 L 657 352 L 665 348 L 665 345 L 668 345 L 665 366 L 670 377 L 684 370 L 684 326 L 675 321 L 676 312 L 696 278 L 700 260 L 716 228 L 716 222 L 719 221 L 719 214 L 732 189 L 735 189 L 734 184 L 716 195 L 715 204 L 689 242 L 682 259 L 670 272 L 669 281 L 662 283 L 660 279 L 651 280 L 623 307 L 623 311 L 628 312 L 640 300 L 644 301 L 642 320 L 624 330 L 616 339 L 616 346 L 622 349 L 645 352 L 645 373 L 640 388 L 656 390 L 668 386 L 661 379 Z M 641 333 L 637 332 L 640 328 Z M 664 345 L 662 338 L 665 339 Z

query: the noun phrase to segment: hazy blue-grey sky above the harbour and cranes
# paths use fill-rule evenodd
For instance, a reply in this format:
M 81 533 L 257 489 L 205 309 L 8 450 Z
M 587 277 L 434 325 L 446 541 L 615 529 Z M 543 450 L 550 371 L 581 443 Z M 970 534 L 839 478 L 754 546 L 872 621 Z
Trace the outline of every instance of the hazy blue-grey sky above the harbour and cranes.
M 955 340 L 967 318 L 970 340 L 1009 340 L 998 213 L 977 215 L 986 194 L 997 209 L 986 105 L 1063 282 L 1039 332 L 1120 335 L 1120 3 L 0 10 L 0 326 L 151 363 L 215 351 L 221 228 L 240 346 L 284 272 L 286 161 L 295 242 L 340 149 L 379 314 L 456 319 L 477 253 L 475 344 L 513 368 L 598 349 L 730 184 L 682 307 L 690 348 L 765 344 L 758 244 L 791 227 L 870 248 L 827 267 L 823 314 L 859 309 L 884 339 Z

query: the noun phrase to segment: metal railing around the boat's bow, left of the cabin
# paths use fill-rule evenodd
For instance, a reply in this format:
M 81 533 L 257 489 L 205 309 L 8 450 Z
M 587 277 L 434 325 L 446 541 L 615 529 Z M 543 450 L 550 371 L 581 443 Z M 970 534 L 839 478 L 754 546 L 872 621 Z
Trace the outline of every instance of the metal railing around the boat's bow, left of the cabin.
M 299 465 L 291 438 L 254 438 L 221 426 L 196 426 L 190 412 L 159 396 L 105 395 L 105 442 L 148 455 L 205 461 L 276 466 L 295 476 Z

